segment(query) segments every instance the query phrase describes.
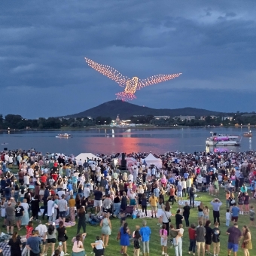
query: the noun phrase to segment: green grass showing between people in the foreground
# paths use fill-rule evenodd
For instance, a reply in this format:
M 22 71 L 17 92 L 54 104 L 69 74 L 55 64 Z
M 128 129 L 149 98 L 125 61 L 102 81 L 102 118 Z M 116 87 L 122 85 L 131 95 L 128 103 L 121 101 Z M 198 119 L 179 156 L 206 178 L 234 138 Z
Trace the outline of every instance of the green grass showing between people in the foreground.
M 206 193 L 199 193 L 200 198 L 198 200 L 201 200 L 204 204 L 204 206 L 209 206 L 210 209 L 210 220 L 213 222 L 212 218 L 212 206 L 210 205 L 210 202 L 212 200 L 212 196 L 209 196 L 209 194 Z M 226 230 L 227 227 L 225 226 L 225 212 L 226 212 L 226 201 L 225 201 L 225 193 L 224 189 L 221 188 L 221 195 L 219 196 L 219 199 L 223 203 L 223 206 L 221 206 L 221 252 L 220 256 L 226 256 L 227 255 L 227 235 L 226 235 Z M 250 204 L 256 208 L 256 201 L 250 200 Z M 171 212 L 175 213 L 176 210 L 178 209 L 177 203 L 172 206 Z M 160 236 L 159 236 L 159 230 L 160 228 L 157 226 L 157 219 L 151 219 L 151 218 L 146 218 L 148 221 L 148 226 L 151 227 L 151 240 L 150 240 L 150 255 L 160 255 L 161 254 L 161 247 L 160 247 Z M 132 218 L 127 218 L 126 221 L 129 224 L 130 230 L 133 231 L 135 230 L 136 225 L 142 225 L 142 219 L 135 219 L 133 220 Z M 190 224 L 195 223 L 197 224 L 197 209 L 191 209 L 190 211 Z M 248 225 L 249 224 L 249 218 L 248 215 L 239 215 L 239 229 L 242 230 L 243 225 Z M 117 232 L 120 228 L 120 220 L 119 219 L 111 219 L 111 224 L 112 224 L 112 233 L 111 236 L 109 237 L 109 242 L 108 242 L 108 247 L 105 250 L 105 256 L 113 256 L 113 255 L 119 255 L 120 251 L 120 245 L 119 241 L 116 240 Z M 172 217 L 172 224 L 175 224 L 175 218 Z M 184 221 L 183 221 L 184 224 Z M 36 227 L 36 223 L 34 224 Z M 232 224 L 230 224 L 231 226 Z M 2 226 L 2 223 L 1 223 Z M 211 225 L 213 227 L 213 223 Z M 77 225 L 75 227 L 69 227 L 67 228 L 67 235 L 69 236 L 69 240 L 67 242 L 68 246 L 68 252 L 71 253 L 72 251 L 72 242 L 71 239 L 73 236 L 76 235 L 76 230 L 77 230 Z M 256 227 L 251 227 L 251 237 L 252 237 L 252 243 L 254 243 L 256 237 Z M 1 231 L 4 231 L 2 229 Z M 26 230 L 23 228 L 20 230 L 20 235 L 24 235 L 26 233 Z M 92 227 L 90 225 L 87 225 L 87 238 L 84 240 L 84 248 L 85 251 L 87 251 L 87 255 L 90 255 L 90 252 L 92 251 L 90 247 L 90 243 L 94 242 L 96 236 L 101 235 L 101 228 L 98 227 Z M 187 254 L 187 249 L 188 249 L 188 232 L 187 228 L 184 227 L 184 238 L 183 238 L 183 254 Z M 211 247 L 211 252 L 212 252 L 212 247 Z M 133 255 L 133 242 L 130 241 L 130 246 L 127 250 L 127 253 L 129 255 Z M 48 254 L 50 255 L 50 250 L 48 251 Z M 47 255 L 48 255 L 47 254 Z M 175 255 L 174 249 L 173 248 L 168 248 L 168 254 L 169 255 Z M 256 244 L 253 244 L 253 249 L 250 250 L 251 255 L 256 255 Z M 242 248 L 239 248 L 239 251 L 237 253 L 238 256 L 243 255 Z

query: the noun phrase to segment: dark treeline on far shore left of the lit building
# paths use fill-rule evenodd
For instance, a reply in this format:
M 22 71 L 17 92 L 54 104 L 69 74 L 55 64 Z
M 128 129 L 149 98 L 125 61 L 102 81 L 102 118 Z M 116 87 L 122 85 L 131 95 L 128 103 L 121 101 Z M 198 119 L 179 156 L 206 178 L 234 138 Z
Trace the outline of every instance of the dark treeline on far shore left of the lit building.
M 87 126 L 108 125 L 111 123 L 111 117 L 96 117 L 90 119 L 87 117 L 78 118 L 59 118 L 59 117 L 39 117 L 38 119 L 26 119 L 18 114 L 8 114 L 5 118 L 0 114 L 0 129 L 60 129 L 62 127 L 83 128 Z

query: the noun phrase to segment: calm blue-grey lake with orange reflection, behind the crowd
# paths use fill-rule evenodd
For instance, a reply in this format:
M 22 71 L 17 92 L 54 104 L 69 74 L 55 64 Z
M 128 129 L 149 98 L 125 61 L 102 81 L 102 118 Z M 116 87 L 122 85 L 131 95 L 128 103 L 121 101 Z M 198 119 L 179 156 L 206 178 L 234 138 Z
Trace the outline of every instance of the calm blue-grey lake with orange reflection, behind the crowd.
M 210 131 L 221 134 L 241 136 L 248 132 L 248 128 L 181 128 L 181 129 L 115 129 L 115 130 L 68 130 L 72 138 L 56 138 L 58 131 L 14 131 L 0 133 L 0 149 L 29 149 L 35 148 L 43 153 L 80 154 L 91 153 L 118 153 L 118 152 L 149 152 L 165 153 L 167 151 L 181 151 L 192 153 L 205 151 L 206 138 Z M 256 136 L 256 129 L 251 127 Z M 239 147 L 223 147 L 219 150 L 248 151 L 256 148 L 256 139 L 242 138 Z

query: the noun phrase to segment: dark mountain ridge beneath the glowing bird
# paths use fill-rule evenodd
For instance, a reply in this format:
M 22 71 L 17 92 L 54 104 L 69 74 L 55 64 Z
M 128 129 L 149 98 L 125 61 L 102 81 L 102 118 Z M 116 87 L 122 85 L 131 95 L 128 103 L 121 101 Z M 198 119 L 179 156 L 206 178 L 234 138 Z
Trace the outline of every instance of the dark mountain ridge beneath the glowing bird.
M 217 111 L 209 111 L 200 108 L 148 108 L 135 105 L 129 102 L 122 102 L 121 100 L 112 100 L 110 102 L 105 102 L 94 108 L 90 108 L 86 111 L 80 112 L 78 114 L 70 114 L 66 117 L 111 117 L 112 119 L 117 117 L 119 114 L 120 118 L 125 120 L 133 115 L 168 115 L 170 117 L 175 117 L 179 115 L 194 115 L 196 117 L 224 114 Z

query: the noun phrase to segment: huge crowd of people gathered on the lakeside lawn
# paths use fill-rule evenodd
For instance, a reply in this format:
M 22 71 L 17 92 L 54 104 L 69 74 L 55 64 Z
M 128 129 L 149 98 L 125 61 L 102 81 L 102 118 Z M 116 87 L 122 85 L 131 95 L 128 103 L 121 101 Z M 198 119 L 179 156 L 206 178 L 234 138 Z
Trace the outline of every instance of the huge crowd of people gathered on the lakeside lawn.
M 220 208 L 224 206 L 227 208 L 228 255 L 233 250 L 236 256 L 240 240 L 245 256 L 249 255 L 248 250 L 252 248 L 249 227 L 255 227 L 254 207 L 249 201 L 256 197 L 254 151 L 155 155 L 162 160 L 162 168 L 147 166 L 143 160 L 147 155 L 126 154 L 126 157 L 136 159 L 136 163 L 122 171 L 120 166 L 114 166 L 113 161 L 120 154 L 97 154 L 95 159 L 87 159 L 83 163 L 74 156 L 43 155 L 34 149 L 2 152 L 1 215 L 6 233 L 11 236 L 8 243 L 11 256 L 26 255 L 28 251 L 31 256 L 47 255 L 49 251 L 55 256 L 69 253 L 84 256 L 86 225 L 93 217 L 89 211 L 91 208 L 101 220 L 101 236 L 91 243 L 96 256 L 105 254 L 114 218 L 120 218 L 117 233 L 120 253 L 127 254 L 127 247 L 133 239 L 134 255 L 139 256 L 142 246 L 143 255 L 148 256 L 149 241 L 154 235 L 145 217 L 157 218 L 163 255 L 167 255 L 169 239 L 175 255 L 182 255 L 184 221 L 189 237 L 188 253 L 195 254 L 197 248 L 198 256 L 204 256 L 213 245 L 211 252 L 216 256 L 220 251 Z M 17 173 L 12 172 L 14 166 L 17 166 Z M 209 206 L 202 202 L 197 205 L 198 191 L 215 196 Z M 218 199 L 219 194 L 225 194 L 226 202 Z M 175 202 L 178 210 L 172 215 L 171 208 Z M 193 208 L 197 208 L 196 224 L 190 224 Z M 210 227 L 210 211 L 213 228 Z M 126 222 L 127 215 L 143 218 L 142 227 L 138 226 L 132 232 Z M 250 221 L 242 231 L 238 228 L 240 215 L 248 215 Z M 46 218 L 47 225 L 41 222 Z M 175 219 L 175 226 L 171 219 L 172 222 Z M 35 221 L 37 227 L 34 227 Z M 72 239 L 72 252 L 67 251 L 66 245 L 67 221 L 77 224 L 78 235 Z M 230 221 L 233 221 L 233 227 L 230 227 Z M 14 230 L 14 225 L 17 230 Z M 22 227 L 26 227 L 24 239 L 19 235 Z M 80 233 L 81 229 L 83 233 Z M 24 247 L 23 251 L 21 247 Z

